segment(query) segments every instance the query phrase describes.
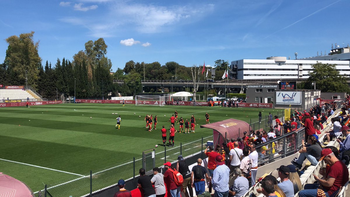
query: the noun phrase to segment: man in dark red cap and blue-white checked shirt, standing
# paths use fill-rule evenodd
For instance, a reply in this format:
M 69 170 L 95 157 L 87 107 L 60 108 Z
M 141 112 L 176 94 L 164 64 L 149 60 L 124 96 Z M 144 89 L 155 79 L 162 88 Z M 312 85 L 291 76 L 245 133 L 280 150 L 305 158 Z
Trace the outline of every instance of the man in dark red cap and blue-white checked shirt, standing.
M 221 155 L 216 156 L 217 166 L 214 170 L 211 183 L 215 197 L 227 197 L 229 195 L 229 175 L 230 169 L 225 165 L 225 160 Z

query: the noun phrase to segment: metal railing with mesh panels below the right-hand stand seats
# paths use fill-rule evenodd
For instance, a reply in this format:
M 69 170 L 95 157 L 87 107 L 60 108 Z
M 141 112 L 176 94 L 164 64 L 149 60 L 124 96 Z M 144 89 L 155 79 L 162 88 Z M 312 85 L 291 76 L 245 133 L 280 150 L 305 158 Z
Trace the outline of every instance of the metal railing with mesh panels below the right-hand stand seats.
M 300 128 L 294 132 L 282 135 L 267 141 L 264 144 L 258 145 L 258 165 L 272 162 L 279 157 L 286 157 L 289 154 L 294 154 L 301 148 L 301 141 L 304 139 L 305 128 Z

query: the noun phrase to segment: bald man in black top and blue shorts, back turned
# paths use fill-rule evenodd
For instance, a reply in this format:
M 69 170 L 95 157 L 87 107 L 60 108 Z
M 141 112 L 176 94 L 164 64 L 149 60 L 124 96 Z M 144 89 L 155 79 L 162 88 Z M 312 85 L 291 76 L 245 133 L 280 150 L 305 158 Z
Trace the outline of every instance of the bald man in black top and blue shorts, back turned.
M 202 166 L 202 162 L 202 159 L 198 158 L 197 165 L 195 165 L 191 171 L 192 187 L 195 189 L 197 196 L 205 191 L 205 177 L 211 180 L 211 176 L 208 176 L 207 169 Z

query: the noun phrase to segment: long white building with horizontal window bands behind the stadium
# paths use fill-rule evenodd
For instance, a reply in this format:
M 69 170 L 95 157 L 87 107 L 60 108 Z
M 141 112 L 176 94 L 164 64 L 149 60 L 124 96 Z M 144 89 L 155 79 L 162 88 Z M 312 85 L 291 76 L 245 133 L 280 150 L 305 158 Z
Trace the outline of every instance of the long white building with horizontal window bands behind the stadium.
M 286 57 L 242 59 L 231 62 L 231 79 L 307 79 L 317 62 L 336 64 L 341 75 L 350 76 L 350 61 L 287 60 Z

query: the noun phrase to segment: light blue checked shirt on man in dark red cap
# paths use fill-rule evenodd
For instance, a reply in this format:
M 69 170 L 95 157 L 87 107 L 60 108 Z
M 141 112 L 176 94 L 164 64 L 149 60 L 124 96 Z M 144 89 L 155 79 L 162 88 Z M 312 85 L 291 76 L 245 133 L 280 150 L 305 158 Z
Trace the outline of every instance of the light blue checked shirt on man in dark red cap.
M 226 165 L 218 165 L 212 177 L 213 189 L 218 192 L 229 191 L 230 169 Z

